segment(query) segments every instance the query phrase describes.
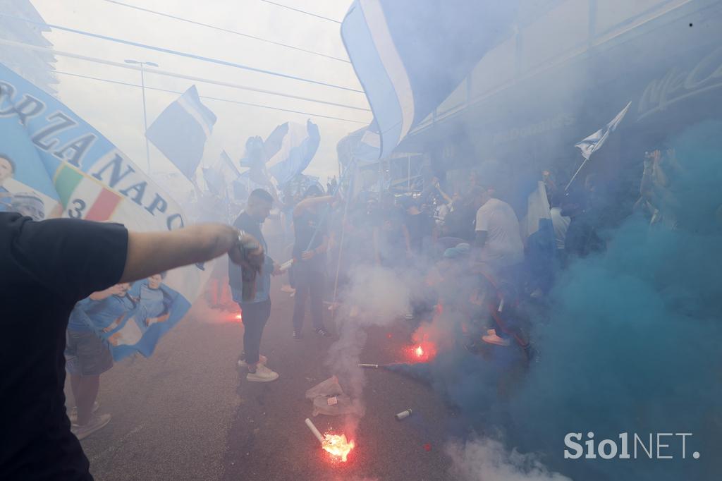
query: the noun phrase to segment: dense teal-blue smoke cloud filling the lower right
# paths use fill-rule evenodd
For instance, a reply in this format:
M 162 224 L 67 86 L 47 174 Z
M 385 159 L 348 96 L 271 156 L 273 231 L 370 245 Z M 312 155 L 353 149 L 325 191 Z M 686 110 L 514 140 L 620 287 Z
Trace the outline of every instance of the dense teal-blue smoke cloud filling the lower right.
M 669 144 L 679 162 L 669 184 L 677 228 L 632 215 L 604 254 L 570 266 L 550 294 L 548 322 L 534 323 L 540 356 L 528 372 L 513 368 L 513 348 L 396 368 L 459 407 L 466 428 L 456 434 L 471 425 L 575 480 L 719 479 L 722 123 L 699 123 Z M 645 459 L 641 449 L 638 459 L 564 459 L 565 435 L 583 433 L 583 443 L 588 432 L 617 444 L 619 433 L 692 436 L 687 459 L 674 436 L 661 451 L 674 459 Z

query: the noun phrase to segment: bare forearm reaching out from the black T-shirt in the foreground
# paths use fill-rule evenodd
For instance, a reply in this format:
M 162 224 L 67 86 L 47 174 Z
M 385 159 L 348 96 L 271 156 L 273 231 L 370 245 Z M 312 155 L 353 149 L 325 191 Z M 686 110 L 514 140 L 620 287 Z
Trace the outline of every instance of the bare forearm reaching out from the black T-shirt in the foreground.
M 238 230 L 222 224 L 193 225 L 165 233 L 130 233 L 121 282 L 209 261 L 237 246 Z

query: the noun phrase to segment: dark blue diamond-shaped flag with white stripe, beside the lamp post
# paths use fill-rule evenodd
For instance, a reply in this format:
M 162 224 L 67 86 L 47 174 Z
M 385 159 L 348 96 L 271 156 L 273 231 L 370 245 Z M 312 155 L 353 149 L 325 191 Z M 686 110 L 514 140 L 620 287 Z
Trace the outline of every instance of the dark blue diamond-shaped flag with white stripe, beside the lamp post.
M 183 175 L 192 179 L 215 123 L 215 114 L 201 103 L 193 85 L 160 113 L 146 136 Z

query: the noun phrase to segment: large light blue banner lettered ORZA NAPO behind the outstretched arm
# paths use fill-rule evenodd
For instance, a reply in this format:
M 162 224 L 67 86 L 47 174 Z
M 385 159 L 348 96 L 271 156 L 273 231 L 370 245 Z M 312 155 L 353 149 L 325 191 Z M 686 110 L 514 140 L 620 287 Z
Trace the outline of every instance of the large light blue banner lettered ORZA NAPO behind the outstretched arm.
M 129 230 L 183 227 L 181 207 L 66 105 L 0 64 L 0 212 L 121 222 Z M 158 273 L 94 293 L 74 310 L 79 329 L 107 340 L 116 360 L 152 353 L 185 316 L 206 274 Z

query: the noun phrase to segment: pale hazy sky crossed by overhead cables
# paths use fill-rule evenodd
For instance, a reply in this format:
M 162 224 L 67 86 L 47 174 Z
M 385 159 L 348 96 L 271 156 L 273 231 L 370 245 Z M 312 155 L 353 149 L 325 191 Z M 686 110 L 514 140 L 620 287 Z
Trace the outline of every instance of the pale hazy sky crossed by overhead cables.
M 142 6 L 144 9 L 348 59 L 342 43 L 339 23 L 285 9 L 266 1 L 121 1 L 134 6 Z M 275 3 L 340 21 L 352 0 L 279 0 Z M 209 27 L 191 25 L 188 22 L 142 12 L 106 0 L 32 0 L 32 4 L 40 12 L 45 22 L 50 24 L 362 90 L 351 64 L 344 61 L 272 45 Z M 153 61 L 159 64 L 159 69 L 166 71 L 368 109 L 365 95 L 362 92 L 284 79 L 61 30 L 48 32 L 45 34 L 45 38 L 53 43 L 53 48 L 57 51 L 78 53 L 116 62 L 123 62 L 125 59 Z M 139 71 L 66 56 L 58 56 L 57 59 L 56 69 L 58 71 L 140 84 Z M 126 155 L 134 159 L 136 164 L 145 169 L 141 89 L 62 74 L 58 74 L 57 79 L 59 84 L 56 88 L 60 100 L 92 126 L 95 126 Z M 355 110 L 260 92 L 249 92 L 158 74 L 146 74 L 145 82 L 147 87 L 180 92 L 185 91 L 192 84 L 196 84 L 201 96 L 222 97 L 240 102 L 302 110 L 316 115 L 357 121 L 354 123 L 331 120 L 204 99 L 202 100 L 204 104 L 218 117 L 212 139 L 206 144 L 205 161 L 209 160 L 207 156 L 218 152 L 219 149 L 225 149 L 232 159 L 238 160 L 243 156 L 245 141 L 249 136 L 265 138 L 280 123 L 286 121 L 305 123 L 310 118 L 318 124 L 321 130 L 321 145 L 305 173 L 318 175 L 325 179 L 327 176 L 338 173 L 336 143 L 343 136 L 360 129 L 363 123 L 369 123 L 372 119 L 372 114 L 367 110 Z M 178 97 L 176 94 L 157 90 L 146 90 L 145 93 L 148 125 Z M 173 165 L 152 144 L 150 145 L 150 163 L 153 173 L 174 170 Z

